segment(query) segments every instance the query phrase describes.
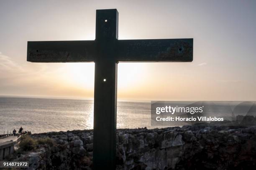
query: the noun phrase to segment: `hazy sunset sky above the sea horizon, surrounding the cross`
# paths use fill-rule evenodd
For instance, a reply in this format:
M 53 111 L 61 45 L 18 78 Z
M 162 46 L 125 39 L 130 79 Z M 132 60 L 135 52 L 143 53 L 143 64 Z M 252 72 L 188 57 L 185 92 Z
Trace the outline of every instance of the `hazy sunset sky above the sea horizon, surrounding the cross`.
M 194 38 L 193 62 L 118 63 L 118 99 L 256 100 L 255 0 L 0 0 L 0 95 L 93 98 L 94 63 L 31 63 L 27 41 Z

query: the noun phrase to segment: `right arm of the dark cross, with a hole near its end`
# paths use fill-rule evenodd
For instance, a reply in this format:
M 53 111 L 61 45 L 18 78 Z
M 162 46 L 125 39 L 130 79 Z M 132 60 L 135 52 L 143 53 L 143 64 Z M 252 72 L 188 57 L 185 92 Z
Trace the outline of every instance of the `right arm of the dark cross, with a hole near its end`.
M 118 61 L 191 62 L 193 39 L 118 40 Z

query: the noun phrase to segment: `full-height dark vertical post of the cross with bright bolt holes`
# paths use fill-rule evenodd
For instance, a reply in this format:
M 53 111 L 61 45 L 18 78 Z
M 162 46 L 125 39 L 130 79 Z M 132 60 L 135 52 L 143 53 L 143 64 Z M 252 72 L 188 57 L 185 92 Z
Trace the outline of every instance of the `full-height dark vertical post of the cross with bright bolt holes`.
M 115 169 L 118 11 L 97 10 L 93 167 Z

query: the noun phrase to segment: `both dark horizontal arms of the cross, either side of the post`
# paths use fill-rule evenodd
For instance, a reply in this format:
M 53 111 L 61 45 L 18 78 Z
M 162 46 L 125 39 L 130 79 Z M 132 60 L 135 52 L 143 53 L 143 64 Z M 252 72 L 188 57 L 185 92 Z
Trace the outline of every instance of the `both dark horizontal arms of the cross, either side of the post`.
M 28 42 L 31 62 L 92 62 L 101 48 L 98 41 Z M 116 40 L 115 62 L 190 62 L 193 39 Z

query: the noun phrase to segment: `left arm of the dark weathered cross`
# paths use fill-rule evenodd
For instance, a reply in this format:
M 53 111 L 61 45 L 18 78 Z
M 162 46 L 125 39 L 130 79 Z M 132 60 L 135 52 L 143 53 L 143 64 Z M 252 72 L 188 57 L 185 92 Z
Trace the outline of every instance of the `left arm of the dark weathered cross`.
M 28 41 L 30 62 L 92 62 L 94 41 Z

